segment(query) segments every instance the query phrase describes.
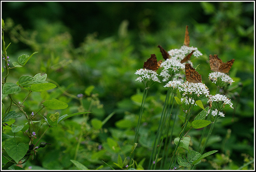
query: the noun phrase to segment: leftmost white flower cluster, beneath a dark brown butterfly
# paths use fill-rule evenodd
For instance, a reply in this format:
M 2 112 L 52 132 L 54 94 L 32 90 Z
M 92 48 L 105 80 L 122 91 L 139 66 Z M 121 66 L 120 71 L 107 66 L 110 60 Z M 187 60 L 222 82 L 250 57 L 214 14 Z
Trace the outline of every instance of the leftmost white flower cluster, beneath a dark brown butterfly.
M 139 81 L 139 82 L 147 82 L 147 81 L 155 81 L 155 82 L 161 82 L 158 78 L 157 78 L 157 73 L 153 70 L 147 70 L 147 69 L 138 69 L 136 70 L 135 74 L 139 75 L 139 77 L 135 80 L 135 81 Z

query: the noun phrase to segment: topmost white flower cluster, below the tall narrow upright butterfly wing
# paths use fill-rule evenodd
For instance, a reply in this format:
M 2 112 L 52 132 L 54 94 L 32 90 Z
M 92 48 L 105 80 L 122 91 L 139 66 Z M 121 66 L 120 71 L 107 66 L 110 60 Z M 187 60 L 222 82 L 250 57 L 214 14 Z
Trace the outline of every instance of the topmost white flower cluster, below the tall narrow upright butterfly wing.
M 186 55 L 188 53 L 190 53 L 191 51 L 193 51 L 193 56 L 195 57 L 199 57 L 202 56 L 202 53 L 197 49 L 197 47 L 188 47 L 186 45 L 183 45 L 182 47 L 180 47 L 180 49 L 171 49 L 170 51 L 168 51 L 170 58 L 176 58 L 177 60 L 182 60 L 186 57 Z

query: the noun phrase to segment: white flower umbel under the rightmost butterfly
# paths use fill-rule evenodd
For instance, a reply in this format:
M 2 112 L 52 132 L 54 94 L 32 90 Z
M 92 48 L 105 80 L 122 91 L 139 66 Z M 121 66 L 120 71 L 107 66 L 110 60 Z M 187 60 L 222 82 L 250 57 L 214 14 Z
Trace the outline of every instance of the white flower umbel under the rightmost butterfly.
M 226 73 L 222 73 L 222 72 L 210 73 L 209 79 L 212 81 L 212 83 L 215 83 L 218 87 L 224 87 L 228 84 L 231 85 L 232 82 L 235 82 Z

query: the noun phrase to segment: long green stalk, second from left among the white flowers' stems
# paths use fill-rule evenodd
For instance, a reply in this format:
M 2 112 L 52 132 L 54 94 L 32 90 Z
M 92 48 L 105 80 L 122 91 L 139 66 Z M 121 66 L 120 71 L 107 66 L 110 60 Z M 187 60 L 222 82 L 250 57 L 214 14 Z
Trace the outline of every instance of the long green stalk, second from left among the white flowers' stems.
M 162 110 L 160 122 L 159 122 L 158 129 L 157 129 L 157 132 L 156 132 L 156 137 L 155 137 L 155 141 L 154 141 L 154 145 L 153 145 L 153 150 L 151 151 L 150 160 L 149 160 L 149 164 L 148 164 L 148 169 L 151 169 L 151 170 L 152 170 L 152 167 L 153 167 L 152 159 L 156 155 L 156 143 L 159 142 L 159 136 L 160 136 L 161 129 L 162 129 L 162 126 L 163 126 L 163 123 L 164 123 L 163 119 L 165 118 L 165 112 L 166 112 L 166 108 L 167 108 L 169 98 L 170 98 L 170 90 L 168 89 L 166 97 L 165 97 L 165 103 L 164 103 L 164 107 L 163 107 L 163 110 Z

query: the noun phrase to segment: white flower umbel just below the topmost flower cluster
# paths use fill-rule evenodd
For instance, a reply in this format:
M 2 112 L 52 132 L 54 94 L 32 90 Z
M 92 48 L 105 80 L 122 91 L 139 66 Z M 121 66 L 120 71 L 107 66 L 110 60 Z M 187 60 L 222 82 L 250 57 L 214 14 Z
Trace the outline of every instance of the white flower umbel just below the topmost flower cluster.
M 180 63 L 180 60 L 170 58 L 162 62 L 160 67 L 163 68 L 163 70 L 161 71 L 159 76 L 162 76 L 164 78 L 163 82 L 166 82 L 172 79 L 175 74 L 184 70 L 185 64 Z

